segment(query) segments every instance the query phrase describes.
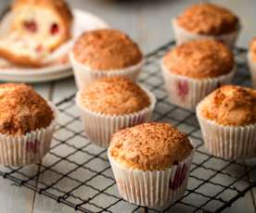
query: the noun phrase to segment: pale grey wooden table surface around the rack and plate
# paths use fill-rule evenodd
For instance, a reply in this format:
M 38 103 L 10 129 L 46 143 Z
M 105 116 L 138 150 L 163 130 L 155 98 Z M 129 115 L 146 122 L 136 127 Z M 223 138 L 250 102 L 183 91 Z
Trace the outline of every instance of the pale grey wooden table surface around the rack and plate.
M 165 44 L 173 39 L 171 19 L 183 8 L 198 2 L 194 0 L 70 0 L 70 5 L 95 13 L 105 19 L 110 26 L 127 32 L 140 44 L 144 53 L 151 51 L 160 44 Z M 256 35 L 255 0 L 219 0 L 212 1 L 233 9 L 242 21 L 243 31 L 239 37 L 238 45 L 248 46 L 250 39 Z M 0 7 L 7 4 L 6 0 L 0 1 Z M 84 23 L 86 24 L 86 23 Z M 34 88 L 52 100 L 58 102 L 65 96 L 76 91 L 73 78 L 34 84 Z M 40 177 L 50 178 L 50 177 Z M 73 212 L 70 207 L 59 205 L 43 195 L 35 194 L 24 187 L 16 187 L 4 179 L 0 179 L 0 212 L 1 213 L 57 213 Z M 224 212 L 256 212 L 256 191 L 252 190 L 244 198 L 237 201 L 231 208 Z

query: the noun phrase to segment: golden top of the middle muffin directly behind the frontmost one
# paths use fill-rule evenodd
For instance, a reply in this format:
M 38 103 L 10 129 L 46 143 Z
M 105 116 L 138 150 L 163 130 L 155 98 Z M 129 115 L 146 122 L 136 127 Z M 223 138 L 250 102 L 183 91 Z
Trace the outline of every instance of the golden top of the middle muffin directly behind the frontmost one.
M 106 115 L 138 112 L 149 106 L 149 98 L 133 81 L 125 77 L 97 80 L 81 92 L 83 107 Z

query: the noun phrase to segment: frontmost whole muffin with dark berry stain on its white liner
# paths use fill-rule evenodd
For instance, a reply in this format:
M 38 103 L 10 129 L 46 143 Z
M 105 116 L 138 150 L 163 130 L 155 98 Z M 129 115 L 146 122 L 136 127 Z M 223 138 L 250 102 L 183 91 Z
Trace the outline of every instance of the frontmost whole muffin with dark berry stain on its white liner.
M 165 207 L 186 192 L 193 146 L 168 123 L 151 122 L 112 135 L 108 157 L 122 198 Z

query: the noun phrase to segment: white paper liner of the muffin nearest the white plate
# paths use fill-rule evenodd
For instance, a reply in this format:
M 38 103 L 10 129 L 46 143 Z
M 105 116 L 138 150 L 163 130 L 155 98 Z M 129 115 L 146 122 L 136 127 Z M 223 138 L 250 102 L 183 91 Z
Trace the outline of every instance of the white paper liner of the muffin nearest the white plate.
M 101 79 L 104 77 L 126 76 L 132 81 L 136 81 L 144 64 L 144 60 L 141 60 L 138 64 L 128 67 L 126 69 L 113 69 L 108 71 L 93 70 L 90 67 L 78 62 L 74 58 L 72 52 L 70 52 L 70 62 L 73 68 L 76 85 L 79 90 L 84 89 L 92 81 L 96 81 L 97 79 Z

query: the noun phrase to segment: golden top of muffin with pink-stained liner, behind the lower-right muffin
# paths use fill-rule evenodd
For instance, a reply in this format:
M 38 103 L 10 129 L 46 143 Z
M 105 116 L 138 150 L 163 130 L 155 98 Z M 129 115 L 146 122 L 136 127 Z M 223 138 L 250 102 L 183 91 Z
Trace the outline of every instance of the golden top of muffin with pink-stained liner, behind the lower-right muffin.
M 180 44 L 163 58 L 165 68 L 172 73 L 195 79 L 227 74 L 234 63 L 234 56 L 225 44 L 207 39 Z

